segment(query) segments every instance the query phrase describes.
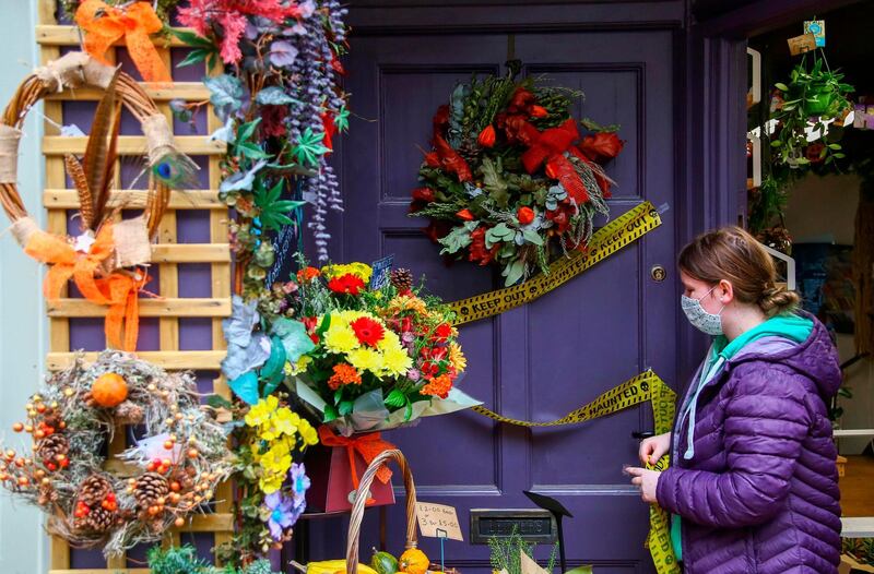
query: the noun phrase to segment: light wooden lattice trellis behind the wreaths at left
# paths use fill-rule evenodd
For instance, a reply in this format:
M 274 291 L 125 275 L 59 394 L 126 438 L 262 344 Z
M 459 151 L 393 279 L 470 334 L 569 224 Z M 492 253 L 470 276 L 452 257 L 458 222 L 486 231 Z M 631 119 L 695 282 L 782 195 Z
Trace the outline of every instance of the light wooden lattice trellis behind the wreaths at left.
M 39 0 L 39 16 L 36 27 L 36 38 L 39 44 L 42 64 L 49 60 L 58 59 L 64 47 L 78 48 L 80 36 L 75 27 L 59 25 L 56 19 L 56 0 Z M 166 43 L 158 43 L 158 51 L 167 68 L 173 70 L 170 49 L 181 47 L 173 38 Z M 115 51 L 115 50 L 113 50 Z M 114 57 L 114 55 L 111 56 Z M 188 101 L 203 101 L 209 99 L 209 93 L 200 82 L 175 82 L 172 86 L 150 88 L 146 93 L 157 103 L 158 109 L 165 113 L 173 124 L 169 100 L 184 99 Z M 68 226 L 68 211 L 78 207 L 76 193 L 67 187 L 63 154 L 82 154 L 85 150 L 85 137 L 71 137 L 56 135 L 57 124 L 64 124 L 63 103 L 72 100 L 97 100 L 101 93 L 96 89 L 66 91 L 48 97 L 44 103 L 46 121 L 46 135 L 43 139 L 43 153 L 46 156 L 46 189 L 43 203 L 48 212 L 47 229 L 51 232 L 66 235 Z M 52 123 L 55 122 L 55 123 Z M 221 127 L 221 123 L 210 110 L 208 116 L 208 132 Z M 222 334 L 222 319 L 231 313 L 231 253 L 227 244 L 227 211 L 218 201 L 217 189 L 220 181 L 220 159 L 224 154 L 223 142 L 209 142 L 203 134 L 179 135 L 176 137 L 177 147 L 192 156 L 208 156 L 209 189 L 190 190 L 186 193 L 174 192 L 169 208 L 161 224 L 158 244 L 153 247 L 153 264 L 158 270 L 158 284 L 153 282 L 147 286 L 157 292 L 158 299 L 141 299 L 140 314 L 145 318 L 157 318 L 158 322 L 158 350 L 139 352 L 140 357 L 170 370 L 212 371 L 216 373 L 213 381 L 214 392 L 229 397 L 225 382 L 218 376 L 220 362 L 225 356 L 224 336 Z M 141 155 L 145 150 L 145 139 L 141 135 L 122 135 L 118 142 L 119 155 Z M 116 169 L 116 189 L 120 187 L 121 169 Z M 121 204 L 126 208 L 142 208 L 144 205 L 144 191 L 117 191 L 110 202 Z M 177 212 L 180 210 L 199 210 L 209 212 L 209 243 L 177 243 Z M 179 265 L 191 263 L 206 263 L 211 271 L 211 297 L 182 298 L 179 297 Z M 47 307 L 49 316 L 49 354 L 47 366 L 49 370 L 62 369 L 70 364 L 73 354 L 70 347 L 71 319 L 99 318 L 106 312 L 105 307 L 91 303 L 84 299 L 66 298 Z M 209 350 L 180 350 L 180 318 L 208 318 L 211 319 L 212 348 Z M 92 357 L 96 354 L 88 354 Z M 87 357 L 87 355 L 86 355 Z M 110 445 L 110 454 L 125 449 L 126 433 L 116 433 L 117 441 Z M 179 543 L 180 533 L 213 533 L 214 545 L 221 545 L 231 538 L 233 531 L 232 489 L 231 485 L 223 485 L 215 493 L 215 512 L 213 514 L 198 515 L 185 528 L 173 530 L 165 543 Z M 128 569 L 126 557 L 108 561 L 106 569 L 79 569 L 71 567 L 71 549 L 59 538 L 51 540 L 50 574 L 66 573 L 145 573 L 145 567 Z

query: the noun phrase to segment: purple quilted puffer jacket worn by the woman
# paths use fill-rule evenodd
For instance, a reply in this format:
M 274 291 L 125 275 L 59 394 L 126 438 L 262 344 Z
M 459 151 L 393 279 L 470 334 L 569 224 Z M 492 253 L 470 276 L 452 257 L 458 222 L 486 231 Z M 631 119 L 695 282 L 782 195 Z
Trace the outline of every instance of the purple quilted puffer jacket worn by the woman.
M 840 493 L 826 403 L 840 381 L 815 319 L 804 343 L 754 340 L 710 381 L 698 400 L 695 455 L 685 461 L 685 449 L 674 449 L 657 488 L 659 505 L 683 518 L 685 572 L 838 572 Z M 675 445 L 685 446 L 687 431 L 674 429 Z

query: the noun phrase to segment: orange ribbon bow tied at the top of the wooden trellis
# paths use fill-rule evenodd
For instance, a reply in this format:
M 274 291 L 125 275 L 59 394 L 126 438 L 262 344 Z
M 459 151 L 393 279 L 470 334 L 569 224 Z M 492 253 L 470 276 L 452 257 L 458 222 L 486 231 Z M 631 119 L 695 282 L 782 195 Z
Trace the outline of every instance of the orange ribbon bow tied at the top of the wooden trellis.
M 109 65 L 110 62 L 105 58 L 106 51 L 123 37 L 128 52 L 143 80 L 173 81 L 149 37 L 164 27 L 150 2 L 134 2 L 126 9 L 119 9 L 103 0 L 85 0 L 75 11 L 75 23 L 87 33 L 85 51 L 97 61 Z

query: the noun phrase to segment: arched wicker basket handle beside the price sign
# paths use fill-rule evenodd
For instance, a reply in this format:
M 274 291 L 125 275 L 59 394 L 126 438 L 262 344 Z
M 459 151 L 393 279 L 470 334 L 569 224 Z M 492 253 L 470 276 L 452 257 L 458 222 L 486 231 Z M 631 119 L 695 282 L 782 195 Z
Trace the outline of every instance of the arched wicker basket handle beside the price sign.
M 374 482 L 377 470 L 389 461 L 398 463 L 398 467 L 403 475 L 403 486 L 406 490 L 406 545 L 404 548 L 416 547 L 416 487 L 413 483 L 413 474 L 406 464 L 406 457 L 397 449 L 382 451 L 379 453 L 367 470 L 362 476 L 361 485 L 355 494 L 355 503 L 352 506 L 352 517 L 349 521 L 349 537 L 346 538 L 346 574 L 357 574 L 358 572 L 358 539 L 361 538 L 362 521 L 364 519 L 364 509 L 367 504 L 368 491 Z M 353 469 L 354 470 L 354 469 Z

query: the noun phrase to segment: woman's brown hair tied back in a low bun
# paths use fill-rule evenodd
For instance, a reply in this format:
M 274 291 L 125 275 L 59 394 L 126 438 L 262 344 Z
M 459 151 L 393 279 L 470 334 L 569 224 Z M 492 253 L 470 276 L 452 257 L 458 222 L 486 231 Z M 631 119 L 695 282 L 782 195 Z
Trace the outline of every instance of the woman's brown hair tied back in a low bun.
M 739 301 L 757 304 L 767 316 L 799 307 L 796 292 L 777 286 L 777 270 L 770 254 L 740 227 L 723 227 L 698 236 L 683 248 L 678 265 L 689 277 L 711 285 L 725 279 Z

